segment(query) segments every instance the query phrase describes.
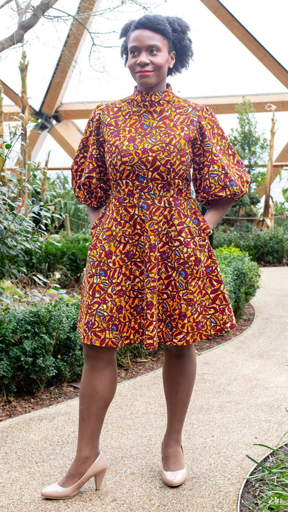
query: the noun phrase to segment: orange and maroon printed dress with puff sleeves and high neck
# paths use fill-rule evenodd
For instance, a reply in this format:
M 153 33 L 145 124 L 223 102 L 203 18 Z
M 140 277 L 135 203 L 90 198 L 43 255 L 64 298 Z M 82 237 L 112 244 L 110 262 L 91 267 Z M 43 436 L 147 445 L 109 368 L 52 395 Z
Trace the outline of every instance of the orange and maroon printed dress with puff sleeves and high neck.
M 91 228 L 78 332 L 100 346 L 185 345 L 235 327 L 206 223 L 249 176 L 208 107 L 165 91 L 98 105 L 72 166 Z

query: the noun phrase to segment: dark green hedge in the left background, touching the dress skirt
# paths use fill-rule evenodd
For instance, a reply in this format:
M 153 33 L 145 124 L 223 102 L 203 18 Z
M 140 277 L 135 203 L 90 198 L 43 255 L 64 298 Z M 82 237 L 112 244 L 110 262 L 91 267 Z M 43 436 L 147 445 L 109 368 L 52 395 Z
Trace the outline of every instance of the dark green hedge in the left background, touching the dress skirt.
M 60 236 L 47 238 L 42 242 L 40 251 L 26 251 L 26 270 L 28 274 L 42 274 L 50 278 L 59 272 L 60 284 L 66 285 L 71 280 L 78 281 L 84 270 L 91 236 L 62 233 Z

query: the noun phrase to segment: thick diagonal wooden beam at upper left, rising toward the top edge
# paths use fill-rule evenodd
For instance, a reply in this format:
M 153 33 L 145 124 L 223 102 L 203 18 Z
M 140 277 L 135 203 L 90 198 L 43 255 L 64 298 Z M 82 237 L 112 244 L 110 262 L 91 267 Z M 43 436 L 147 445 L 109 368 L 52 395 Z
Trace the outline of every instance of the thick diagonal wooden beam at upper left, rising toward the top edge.
M 60 53 L 51 82 L 44 96 L 40 111 L 52 116 L 62 102 L 62 98 L 69 84 L 75 68 L 78 55 L 87 36 L 87 29 L 91 24 L 91 14 L 100 0 L 81 0 L 75 17 L 73 18 L 69 34 Z M 79 21 L 78 21 L 78 19 Z

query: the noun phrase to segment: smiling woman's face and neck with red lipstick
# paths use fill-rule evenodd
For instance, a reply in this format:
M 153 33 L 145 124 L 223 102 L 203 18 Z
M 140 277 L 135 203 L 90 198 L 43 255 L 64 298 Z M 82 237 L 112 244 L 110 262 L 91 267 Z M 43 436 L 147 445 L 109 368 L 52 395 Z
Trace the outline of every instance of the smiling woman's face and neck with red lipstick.
M 128 41 L 127 67 L 140 91 L 165 91 L 168 67 L 175 62 L 168 41 L 160 34 L 139 28 Z

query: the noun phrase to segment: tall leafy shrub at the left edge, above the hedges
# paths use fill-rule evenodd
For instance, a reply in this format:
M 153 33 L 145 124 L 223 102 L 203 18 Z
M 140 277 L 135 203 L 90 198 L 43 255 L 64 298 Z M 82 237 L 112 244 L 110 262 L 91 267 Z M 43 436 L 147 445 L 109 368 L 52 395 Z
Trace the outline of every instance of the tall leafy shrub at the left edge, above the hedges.
M 29 124 L 26 120 L 26 127 Z M 51 210 L 41 199 L 44 170 L 31 161 L 13 171 L 5 168 L 19 145 L 23 125 L 22 121 L 10 127 L 9 136 L 0 139 L 0 279 L 25 274 L 24 253 L 39 249 L 51 222 Z

